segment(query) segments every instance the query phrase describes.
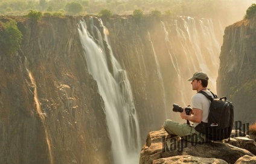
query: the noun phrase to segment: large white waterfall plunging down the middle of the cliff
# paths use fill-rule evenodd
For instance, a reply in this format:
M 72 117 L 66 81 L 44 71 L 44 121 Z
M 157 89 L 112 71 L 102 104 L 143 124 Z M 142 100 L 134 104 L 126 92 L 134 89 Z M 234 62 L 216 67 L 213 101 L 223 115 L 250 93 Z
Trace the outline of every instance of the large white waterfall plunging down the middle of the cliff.
M 114 163 L 138 163 L 141 138 L 126 71 L 121 68 L 112 54 L 107 40 L 106 27 L 103 26 L 101 20 L 98 20 L 104 32 L 102 40 L 101 33 L 94 26 L 94 19 L 90 18 L 90 20 L 90 28 L 94 37 L 87 31 L 85 20 L 80 21 L 78 32 L 85 51 L 89 73 L 97 81 L 98 92 L 104 100 Z M 94 31 L 97 31 L 96 34 Z M 99 44 L 95 42 L 95 39 Z M 104 42 L 107 47 L 104 47 Z M 109 50 L 110 55 L 107 56 L 106 50 Z M 107 62 L 109 60 L 111 64 Z

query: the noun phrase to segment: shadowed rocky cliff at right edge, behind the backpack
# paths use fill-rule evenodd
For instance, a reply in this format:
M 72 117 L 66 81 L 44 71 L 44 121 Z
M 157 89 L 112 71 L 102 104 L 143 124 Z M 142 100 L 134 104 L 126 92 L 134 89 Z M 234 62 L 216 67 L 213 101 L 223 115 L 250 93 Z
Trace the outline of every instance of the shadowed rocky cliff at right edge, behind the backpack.
M 256 82 L 256 17 L 225 29 L 220 53 L 217 93 L 234 103 L 235 121 L 254 123 Z

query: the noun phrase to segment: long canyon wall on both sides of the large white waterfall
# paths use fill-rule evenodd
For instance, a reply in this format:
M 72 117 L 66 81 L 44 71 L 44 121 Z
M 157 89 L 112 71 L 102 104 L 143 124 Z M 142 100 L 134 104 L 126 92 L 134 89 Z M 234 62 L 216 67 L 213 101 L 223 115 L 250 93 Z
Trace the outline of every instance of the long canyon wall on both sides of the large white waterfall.
M 83 17 L 0 17 L 9 19 L 18 22 L 23 41 L 15 55 L 0 55 L 0 163 L 113 163 L 106 102 L 78 34 Z M 103 20 L 106 31 L 97 17 L 84 19 L 88 31 L 93 25 L 108 34 L 110 47 L 103 40 L 102 50 L 109 72 L 109 52 L 127 72 L 141 141 L 167 118 L 182 122 L 172 105 L 190 103 L 187 79 L 195 71 L 206 71 L 216 91 L 222 32 L 212 20 L 118 16 Z

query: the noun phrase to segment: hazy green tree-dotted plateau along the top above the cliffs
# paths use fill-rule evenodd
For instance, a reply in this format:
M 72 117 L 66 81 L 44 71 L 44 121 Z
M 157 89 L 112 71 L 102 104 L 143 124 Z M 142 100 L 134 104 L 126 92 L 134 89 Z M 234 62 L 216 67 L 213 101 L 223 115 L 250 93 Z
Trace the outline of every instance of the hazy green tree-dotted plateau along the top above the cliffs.
M 218 19 L 220 22 L 234 23 L 238 13 L 245 14 L 253 0 L 0 0 L 1 15 L 27 15 L 31 10 L 42 13 L 94 14 L 103 8 L 112 14 L 133 14 L 141 9 L 144 14 L 158 14 L 155 8 L 165 16 L 190 16 Z M 60 10 L 65 10 L 61 12 Z M 153 10 L 153 11 L 152 11 Z M 248 8 L 246 18 L 254 14 L 254 6 Z

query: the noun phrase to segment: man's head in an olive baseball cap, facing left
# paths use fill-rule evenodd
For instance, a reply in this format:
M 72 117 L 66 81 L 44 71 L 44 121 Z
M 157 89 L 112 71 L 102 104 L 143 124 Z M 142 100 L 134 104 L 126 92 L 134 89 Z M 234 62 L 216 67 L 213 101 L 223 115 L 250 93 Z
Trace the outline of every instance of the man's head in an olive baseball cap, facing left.
M 188 81 L 192 81 L 191 85 L 193 90 L 197 90 L 198 88 L 200 90 L 201 88 L 207 87 L 208 79 L 209 77 L 207 76 L 206 73 L 203 73 L 202 71 L 198 71 L 194 73 L 193 76 L 190 79 L 188 79 Z M 201 85 L 202 87 L 200 87 Z

